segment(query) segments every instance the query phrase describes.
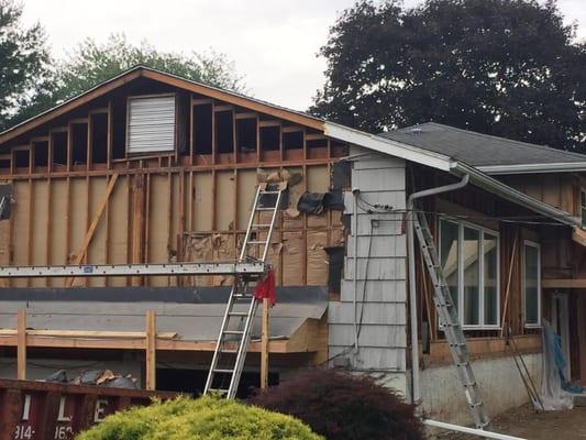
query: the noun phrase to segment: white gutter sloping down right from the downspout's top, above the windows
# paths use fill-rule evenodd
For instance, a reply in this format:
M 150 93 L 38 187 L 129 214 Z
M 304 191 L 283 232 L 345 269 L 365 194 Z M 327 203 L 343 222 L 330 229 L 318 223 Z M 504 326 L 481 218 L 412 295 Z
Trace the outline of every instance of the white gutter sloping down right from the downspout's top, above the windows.
M 452 165 L 452 174 L 462 176 L 464 174 L 469 175 L 472 184 L 486 189 L 504 199 L 510 200 L 517 205 L 521 205 L 533 212 L 545 216 L 550 219 L 559 221 L 563 224 L 576 227 L 581 224 L 579 219 L 572 217 L 568 212 L 556 209 L 548 204 L 544 204 L 524 193 L 518 191 L 501 182 L 494 179 L 493 177 L 479 172 L 478 169 L 463 164 L 461 162 L 454 162 Z

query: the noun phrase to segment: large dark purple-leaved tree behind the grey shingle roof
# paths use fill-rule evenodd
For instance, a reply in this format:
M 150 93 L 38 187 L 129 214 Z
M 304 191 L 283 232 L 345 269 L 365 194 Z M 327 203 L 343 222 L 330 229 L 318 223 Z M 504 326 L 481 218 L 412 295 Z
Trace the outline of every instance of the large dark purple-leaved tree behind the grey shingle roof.
M 363 0 L 321 48 L 312 111 L 379 132 L 428 121 L 586 150 L 586 45 L 555 0 Z

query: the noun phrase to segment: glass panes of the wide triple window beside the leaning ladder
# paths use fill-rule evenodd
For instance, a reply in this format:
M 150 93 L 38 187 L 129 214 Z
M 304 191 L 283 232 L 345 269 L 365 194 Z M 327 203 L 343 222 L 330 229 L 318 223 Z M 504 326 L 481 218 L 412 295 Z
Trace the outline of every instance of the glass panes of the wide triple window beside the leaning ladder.
M 498 328 L 498 233 L 440 220 L 440 262 L 464 328 Z

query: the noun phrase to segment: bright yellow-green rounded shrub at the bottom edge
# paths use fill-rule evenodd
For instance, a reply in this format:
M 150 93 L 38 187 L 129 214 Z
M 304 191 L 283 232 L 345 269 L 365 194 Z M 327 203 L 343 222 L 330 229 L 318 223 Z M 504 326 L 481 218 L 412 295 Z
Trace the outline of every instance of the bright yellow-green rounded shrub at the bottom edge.
M 179 397 L 107 417 L 77 440 L 320 440 L 301 421 L 215 397 Z

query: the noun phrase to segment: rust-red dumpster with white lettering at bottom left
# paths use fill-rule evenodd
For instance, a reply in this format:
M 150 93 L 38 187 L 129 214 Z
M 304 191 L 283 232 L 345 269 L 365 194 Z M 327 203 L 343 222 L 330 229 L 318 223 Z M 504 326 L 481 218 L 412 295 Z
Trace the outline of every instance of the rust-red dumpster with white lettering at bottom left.
M 67 440 L 108 415 L 179 393 L 0 380 L 0 440 Z

